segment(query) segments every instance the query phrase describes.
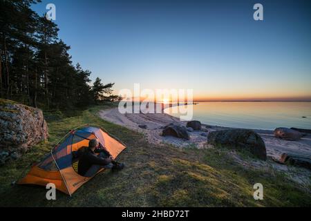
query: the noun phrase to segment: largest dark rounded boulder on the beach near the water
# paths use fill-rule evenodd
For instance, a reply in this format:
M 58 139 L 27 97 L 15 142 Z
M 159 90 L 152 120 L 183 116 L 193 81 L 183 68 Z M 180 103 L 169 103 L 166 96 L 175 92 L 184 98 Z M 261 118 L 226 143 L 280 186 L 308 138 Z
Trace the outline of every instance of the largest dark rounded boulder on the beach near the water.
M 246 150 L 261 160 L 267 159 L 265 143 L 261 136 L 251 130 L 229 129 L 213 131 L 207 136 L 209 144 L 237 150 Z

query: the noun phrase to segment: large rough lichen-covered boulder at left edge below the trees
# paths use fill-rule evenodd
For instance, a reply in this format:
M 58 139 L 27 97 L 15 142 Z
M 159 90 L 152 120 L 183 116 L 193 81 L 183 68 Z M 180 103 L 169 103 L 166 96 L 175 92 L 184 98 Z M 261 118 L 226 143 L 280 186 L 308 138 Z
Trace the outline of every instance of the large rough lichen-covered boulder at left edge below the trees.
M 0 165 L 19 158 L 47 137 L 48 126 L 41 110 L 0 99 Z

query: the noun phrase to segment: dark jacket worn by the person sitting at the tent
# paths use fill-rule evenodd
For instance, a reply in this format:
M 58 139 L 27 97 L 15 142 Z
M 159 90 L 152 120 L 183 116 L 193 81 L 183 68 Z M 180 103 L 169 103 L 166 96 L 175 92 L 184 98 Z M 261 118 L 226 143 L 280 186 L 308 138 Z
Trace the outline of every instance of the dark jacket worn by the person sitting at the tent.
M 95 153 L 100 153 L 102 150 L 96 150 L 93 152 L 91 148 L 84 148 L 84 151 L 79 157 L 79 164 L 78 164 L 78 173 L 79 175 L 84 175 L 88 169 L 91 168 L 93 164 L 97 165 L 107 165 L 111 163 L 111 159 L 109 158 L 102 158 L 97 156 Z M 108 156 L 107 156 L 108 157 Z

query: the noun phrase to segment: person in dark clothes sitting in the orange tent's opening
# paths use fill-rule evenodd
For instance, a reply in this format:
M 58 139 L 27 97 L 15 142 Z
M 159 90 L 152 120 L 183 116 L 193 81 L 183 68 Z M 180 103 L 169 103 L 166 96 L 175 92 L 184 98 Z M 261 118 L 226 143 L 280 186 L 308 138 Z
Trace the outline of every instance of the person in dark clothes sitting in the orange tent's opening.
M 100 142 L 93 139 L 88 142 L 88 147 L 84 148 L 82 156 L 79 157 L 78 173 L 84 177 L 92 177 L 102 168 L 106 169 L 123 169 L 124 164 L 113 160 L 108 151 L 98 148 Z M 100 153 L 96 155 L 95 153 Z

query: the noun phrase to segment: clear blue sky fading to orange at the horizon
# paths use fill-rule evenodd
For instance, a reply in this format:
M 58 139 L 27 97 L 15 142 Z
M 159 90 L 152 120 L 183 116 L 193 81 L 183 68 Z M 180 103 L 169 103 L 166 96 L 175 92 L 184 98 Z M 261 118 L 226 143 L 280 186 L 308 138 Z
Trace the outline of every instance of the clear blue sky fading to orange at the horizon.
M 194 99 L 311 100 L 311 1 L 55 3 L 74 64 L 122 88 L 192 88 Z M 253 6 L 263 4 L 263 21 Z

